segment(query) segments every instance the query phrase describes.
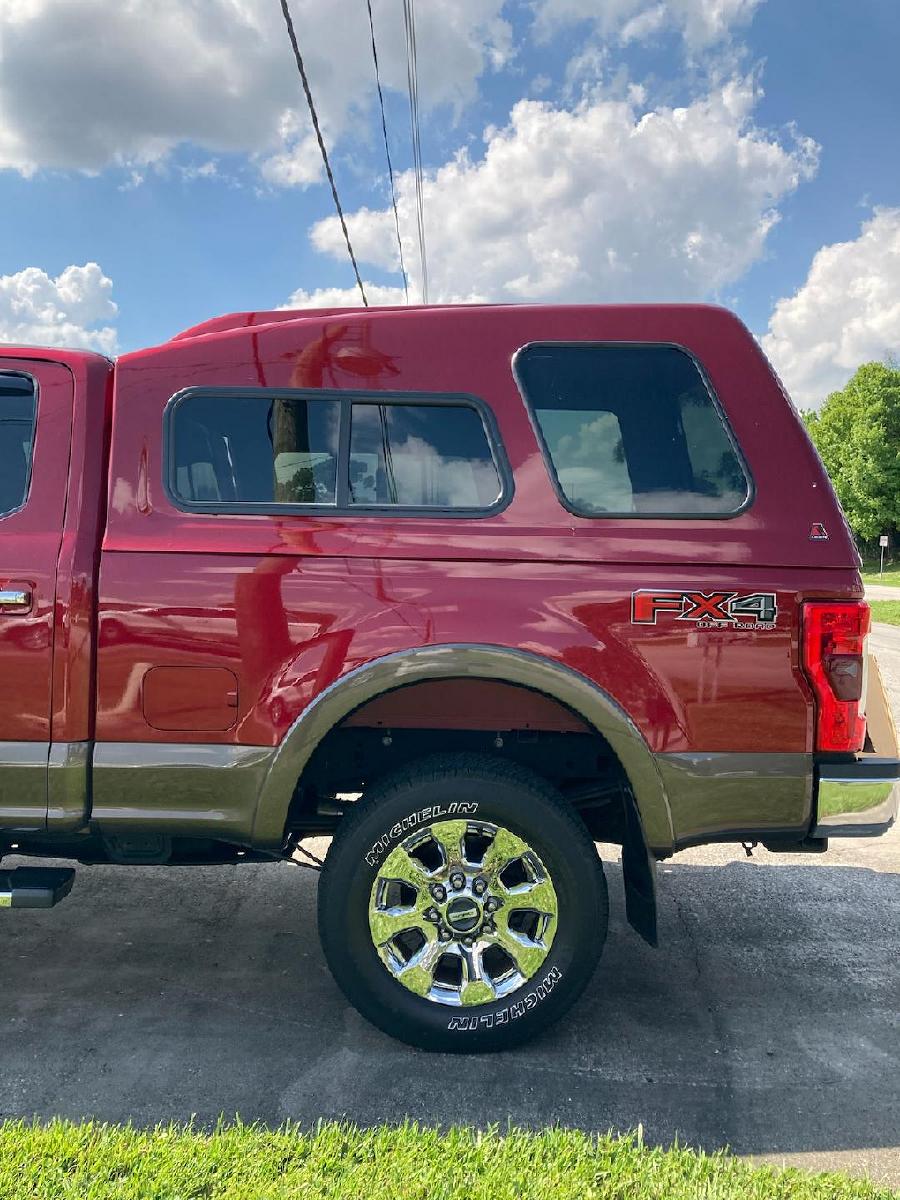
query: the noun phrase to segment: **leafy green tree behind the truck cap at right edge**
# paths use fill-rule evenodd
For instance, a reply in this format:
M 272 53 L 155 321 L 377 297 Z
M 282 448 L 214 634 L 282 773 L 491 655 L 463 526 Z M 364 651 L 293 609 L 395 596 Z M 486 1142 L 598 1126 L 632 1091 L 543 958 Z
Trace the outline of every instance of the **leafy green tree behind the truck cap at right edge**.
M 900 368 L 864 362 L 842 391 L 803 420 L 853 533 L 864 541 L 900 529 Z

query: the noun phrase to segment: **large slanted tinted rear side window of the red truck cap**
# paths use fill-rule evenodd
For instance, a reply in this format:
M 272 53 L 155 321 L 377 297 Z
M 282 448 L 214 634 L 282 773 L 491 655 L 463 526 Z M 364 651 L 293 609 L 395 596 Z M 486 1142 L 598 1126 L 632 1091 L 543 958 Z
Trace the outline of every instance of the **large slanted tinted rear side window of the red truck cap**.
M 532 346 L 518 378 L 569 504 L 588 516 L 736 512 L 749 482 L 695 364 L 667 346 Z

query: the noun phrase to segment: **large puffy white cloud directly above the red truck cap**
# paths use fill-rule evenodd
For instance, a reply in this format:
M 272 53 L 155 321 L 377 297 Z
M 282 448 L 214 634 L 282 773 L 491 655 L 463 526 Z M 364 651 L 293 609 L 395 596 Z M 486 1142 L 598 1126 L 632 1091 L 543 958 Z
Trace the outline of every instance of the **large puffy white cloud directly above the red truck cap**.
M 425 180 L 432 300 L 626 301 L 714 296 L 763 252 L 778 204 L 816 167 L 817 146 L 754 125 L 757 94 L 733 80 L 684 108 L 642 94 L 574 109 L 520 101 L 485 155 L 461 151 Z M 414 185 L 398 179 L 407 265 Z M 349 217 L 356 256 L 396 270 L 388 209 Z M 313 244 L 341 259 L 336 218 Z

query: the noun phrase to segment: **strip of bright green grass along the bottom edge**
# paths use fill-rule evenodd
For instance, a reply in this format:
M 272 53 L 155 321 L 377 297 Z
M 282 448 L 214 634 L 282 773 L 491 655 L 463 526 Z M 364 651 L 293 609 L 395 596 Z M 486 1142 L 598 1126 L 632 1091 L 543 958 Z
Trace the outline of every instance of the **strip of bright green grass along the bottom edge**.
M 749 1166 L 725 1152 L 414 1124 L 221 1126 L 204 1134 L 0 1123 L 0 1200 L 887 1200 L 842 1175 Z

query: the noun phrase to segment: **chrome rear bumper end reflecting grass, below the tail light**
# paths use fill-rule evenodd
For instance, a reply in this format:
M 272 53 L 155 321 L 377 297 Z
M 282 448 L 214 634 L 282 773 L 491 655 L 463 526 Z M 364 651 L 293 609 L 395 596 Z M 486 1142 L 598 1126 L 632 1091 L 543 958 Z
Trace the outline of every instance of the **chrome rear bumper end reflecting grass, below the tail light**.
M 818 773 L 814 838 L 876 838 L 887 833 L 900 806 L 900 762 L 859 758 Z

